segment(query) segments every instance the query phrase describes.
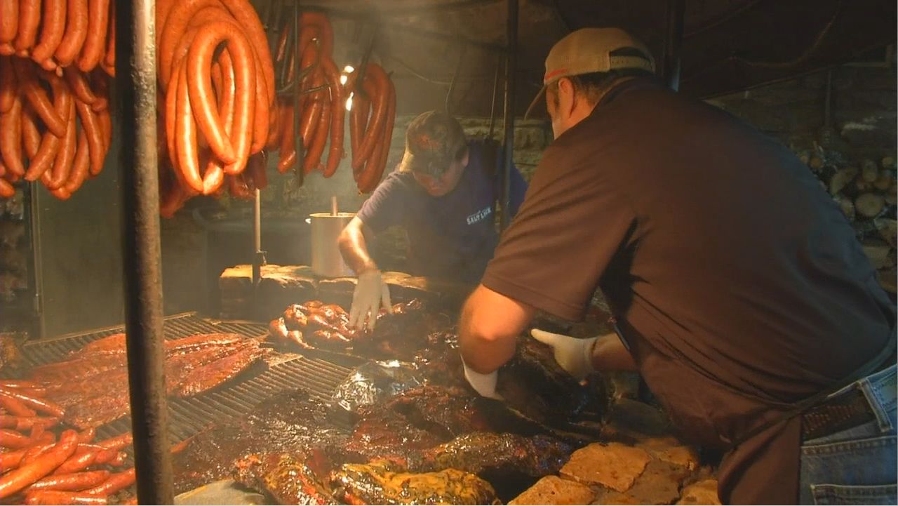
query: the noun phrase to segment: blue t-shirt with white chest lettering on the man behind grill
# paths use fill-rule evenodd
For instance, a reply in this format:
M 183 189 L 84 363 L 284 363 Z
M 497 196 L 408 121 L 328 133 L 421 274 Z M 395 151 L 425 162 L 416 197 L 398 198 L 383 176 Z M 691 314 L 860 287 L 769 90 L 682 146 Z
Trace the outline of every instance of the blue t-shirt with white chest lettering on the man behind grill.
M 501 178 L 489 173 L 494 162 L 481 142 L 470 142 L 468 147 L 468 166 L 453 191 L 432 197 L 412 173 L 393 171 L 358 211 L 374 233 L 394 225 L 405 228 L 411 274 L 477 281 L 493 256 Z M 513 167 L 511 216 L 526 190 L 527 183 Z

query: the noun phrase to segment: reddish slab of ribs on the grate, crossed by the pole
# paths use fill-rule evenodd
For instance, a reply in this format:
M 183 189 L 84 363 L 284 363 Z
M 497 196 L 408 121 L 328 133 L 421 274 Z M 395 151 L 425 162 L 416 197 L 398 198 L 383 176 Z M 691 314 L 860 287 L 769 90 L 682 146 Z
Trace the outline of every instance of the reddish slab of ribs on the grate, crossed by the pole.
M 235 333 L 196 334 L 167 340 L 165 390 L 189 397 L 215 388 L 260 360 L 267 350 Z M 125 334 L 90 342 L 66 360 L 31 369 L 31 379 L 48 383 L 47 397 L 66 408 L 64 421 L 79 429 L 97 427 L 128 414 Z

